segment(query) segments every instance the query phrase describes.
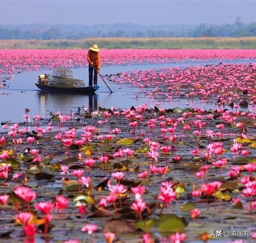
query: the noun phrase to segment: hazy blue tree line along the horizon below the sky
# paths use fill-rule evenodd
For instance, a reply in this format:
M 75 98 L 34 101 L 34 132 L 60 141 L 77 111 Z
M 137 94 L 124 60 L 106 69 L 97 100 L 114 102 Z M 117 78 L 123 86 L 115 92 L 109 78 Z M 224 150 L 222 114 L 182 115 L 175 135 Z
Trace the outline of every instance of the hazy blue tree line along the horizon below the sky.
M 26 28 L 25 28 L 26 27 Z M 242 22 L 240 17 L 233 24 L 209 25 L 202 23 L 199 26 L 189 25 L 160 25 L 140 26 L 135 24 L 115 25 L 22 25 L 0 26 L 0 39 L 84 39 L 96 37 L 249 37 L 256 36 L 256 21 L 249 24 Z

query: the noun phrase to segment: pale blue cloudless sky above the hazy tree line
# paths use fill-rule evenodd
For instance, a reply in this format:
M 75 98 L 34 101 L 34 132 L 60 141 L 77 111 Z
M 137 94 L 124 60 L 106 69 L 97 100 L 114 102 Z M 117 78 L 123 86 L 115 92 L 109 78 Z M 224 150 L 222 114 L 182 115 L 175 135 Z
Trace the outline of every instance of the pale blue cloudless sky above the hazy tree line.
M 256 0 L 0 0 L 0 24 L 199 24 L 256 20 Z

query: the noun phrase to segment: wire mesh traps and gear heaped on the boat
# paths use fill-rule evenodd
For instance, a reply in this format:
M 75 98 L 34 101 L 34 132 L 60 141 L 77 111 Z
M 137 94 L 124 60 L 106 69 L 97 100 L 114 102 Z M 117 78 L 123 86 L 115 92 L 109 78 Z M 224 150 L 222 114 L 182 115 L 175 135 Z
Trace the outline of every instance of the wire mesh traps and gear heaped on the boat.
M 60 88 L 82 88 L 84 81 L 73 78 L 73 72 L 69 68 L 56 68 L 52 75 L 38 75 L 38 83 L 42 85 L 60 87 Z

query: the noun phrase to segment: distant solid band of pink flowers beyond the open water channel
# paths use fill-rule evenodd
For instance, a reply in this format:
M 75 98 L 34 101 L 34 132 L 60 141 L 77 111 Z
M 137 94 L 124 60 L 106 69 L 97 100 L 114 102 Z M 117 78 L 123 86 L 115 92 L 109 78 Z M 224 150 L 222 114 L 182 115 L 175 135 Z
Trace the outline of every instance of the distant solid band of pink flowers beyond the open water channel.
M 256 58 L 256 49 L 102 49 L 103 65 L 128 65 L 132 63 L 170 63 L 175 61 L 232 60 Z M 62 67 L 82 67 L 87 65 L 87 50 L 0 50 L 0 74 L 13 74 L 21 70 L 52 69 Z

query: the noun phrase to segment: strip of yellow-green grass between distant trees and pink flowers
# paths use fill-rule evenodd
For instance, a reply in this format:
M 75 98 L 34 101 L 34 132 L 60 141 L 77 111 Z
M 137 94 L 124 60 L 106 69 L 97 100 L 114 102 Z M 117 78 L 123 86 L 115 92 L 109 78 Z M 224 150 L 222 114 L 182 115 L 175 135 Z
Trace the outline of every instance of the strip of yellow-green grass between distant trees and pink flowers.
M 256 37 L 87 38 L 80 40 L 0 40 L 0 49 L 256 49 Z

